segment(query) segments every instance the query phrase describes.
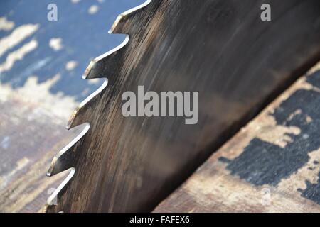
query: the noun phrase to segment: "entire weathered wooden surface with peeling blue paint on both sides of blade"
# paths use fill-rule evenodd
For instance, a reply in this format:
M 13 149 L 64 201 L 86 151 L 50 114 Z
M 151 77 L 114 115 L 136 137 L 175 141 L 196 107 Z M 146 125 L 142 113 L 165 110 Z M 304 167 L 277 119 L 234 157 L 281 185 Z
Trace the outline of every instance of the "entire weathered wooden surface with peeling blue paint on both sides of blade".
M 123 36 L 107 35 L 107 29 L 140 0 L 60 0 L 61 15 L 68 17 L 54 22 L 47 20 L 46 11 L 34 13 L 48 3 L 15 0 L 0 7 L 0 20 L 6 21 L 0 40 L 22 33 L 11 49 L 0 50 L 0 212 L 43 211 L 52 189 L 65 178 L 48 178 L 46 170 L 58 150 L 81 131 L 65 130 L 70 113 L 100 85 L 88 84 L 80 75 L 91 57 L 122 42 Z M 22 57 L 12 61 L 10 55 Z M 316 68 L 154 211 L 320 211 Z

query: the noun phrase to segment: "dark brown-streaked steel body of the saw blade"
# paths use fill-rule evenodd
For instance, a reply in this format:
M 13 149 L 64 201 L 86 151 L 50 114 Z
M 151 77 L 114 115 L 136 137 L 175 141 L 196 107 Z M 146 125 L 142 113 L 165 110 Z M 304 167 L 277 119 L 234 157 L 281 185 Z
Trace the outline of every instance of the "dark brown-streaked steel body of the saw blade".
M 154 0 L 124 25 L 129 43 L 90 68 L 108 86 L 72 118 L 90 130 L 70 151 L 75 175 L 48 211 L 151 211 L 319 59 L 319 1 L 270 1 L 270 23 L 260 20 L 262 3 Z M 198 91 L 198 124 L 124 118 L 121 96 L 139 85 Z

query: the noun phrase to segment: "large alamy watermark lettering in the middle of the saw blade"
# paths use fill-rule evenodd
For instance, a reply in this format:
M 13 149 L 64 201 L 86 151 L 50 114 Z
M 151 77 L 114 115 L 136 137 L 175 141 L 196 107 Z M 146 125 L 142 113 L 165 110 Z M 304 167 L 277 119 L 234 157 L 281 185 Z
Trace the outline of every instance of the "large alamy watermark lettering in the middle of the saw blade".
M 192 95 L 191 95 L 192 94 Z M 166 117 L 185 117 L 186 124 L 198 123 L 198 92 L 146 92 L 144 86 L 138 86 L 134 92 L 122 94 L 122 115 Z

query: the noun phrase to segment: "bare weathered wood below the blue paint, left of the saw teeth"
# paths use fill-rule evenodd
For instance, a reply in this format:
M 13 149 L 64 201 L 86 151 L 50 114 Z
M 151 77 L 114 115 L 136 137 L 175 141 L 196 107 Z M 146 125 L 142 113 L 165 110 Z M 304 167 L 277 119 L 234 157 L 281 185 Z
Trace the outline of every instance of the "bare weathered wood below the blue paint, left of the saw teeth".
M 62 119 L 17 96 L 0 109 L 0 212 L 40 211 L 65 177 L 48 178 L 46 168 L 79 130 L 63 130 Z

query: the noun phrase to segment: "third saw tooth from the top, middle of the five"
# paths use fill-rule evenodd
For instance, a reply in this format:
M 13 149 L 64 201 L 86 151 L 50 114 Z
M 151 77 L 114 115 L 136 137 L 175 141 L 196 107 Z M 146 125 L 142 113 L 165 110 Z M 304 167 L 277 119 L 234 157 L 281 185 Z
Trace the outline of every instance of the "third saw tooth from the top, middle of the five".
M 95 109 L 95 101 L 100 99 L 99 94 L 107 87 L 108 79 L 105 79 L 105 82 L 97 89 L 95 92 L 87 96 L 87 99 L 82 101 L 80 105 L 73 111 L 73 114 L 70 116 L 67 128 L 74 128 L 75 126 L 80 126 L 83 123 L 88 122 L 87 117 L 92 113 Z

